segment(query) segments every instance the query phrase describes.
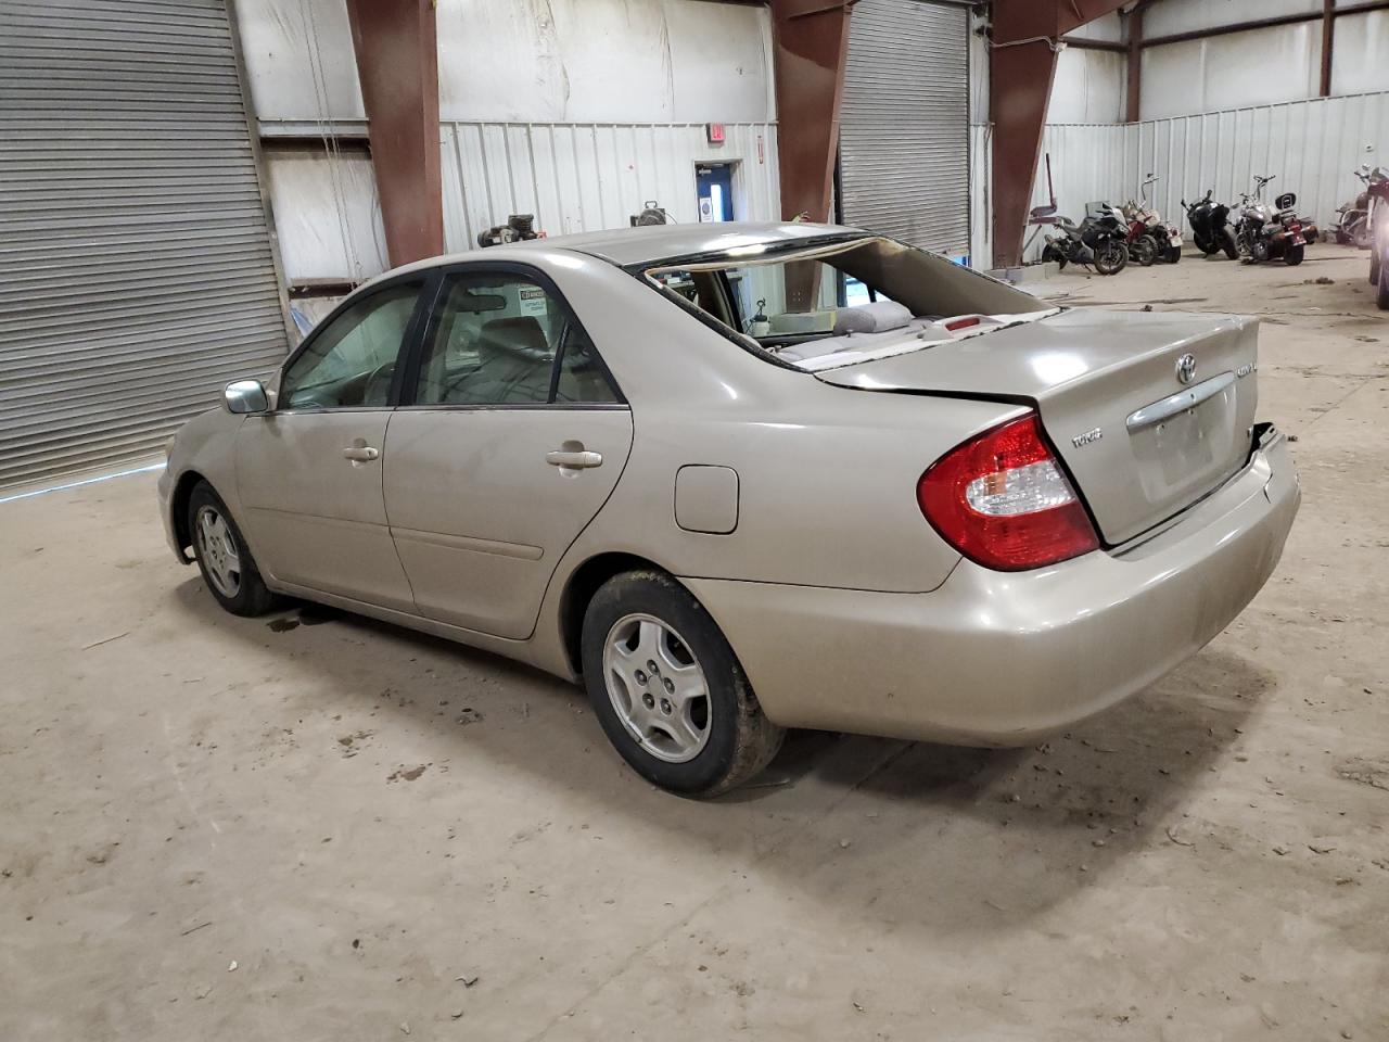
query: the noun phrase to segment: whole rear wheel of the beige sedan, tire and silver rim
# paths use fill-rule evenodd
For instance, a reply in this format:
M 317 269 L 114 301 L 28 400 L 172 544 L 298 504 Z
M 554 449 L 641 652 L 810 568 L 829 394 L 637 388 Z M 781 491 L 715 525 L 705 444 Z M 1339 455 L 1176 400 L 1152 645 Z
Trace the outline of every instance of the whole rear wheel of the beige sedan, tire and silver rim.
M 753 778 L 785 731 L 763 716 L 704 607 L 658 571 L 608 579 L 583 613 L 583 684 L 608 741 L 643 778 L 717 796 Z

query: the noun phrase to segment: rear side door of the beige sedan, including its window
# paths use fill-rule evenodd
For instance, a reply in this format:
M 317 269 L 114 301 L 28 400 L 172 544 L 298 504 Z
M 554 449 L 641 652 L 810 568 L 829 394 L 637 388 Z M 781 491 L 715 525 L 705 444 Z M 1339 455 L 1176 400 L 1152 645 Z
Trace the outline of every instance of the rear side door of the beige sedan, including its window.
M 632 415 L 539 272 L 457 270 L 436 299 L 386 438 L 390 531 L 421 614 L 524 639 L 617 485 Z

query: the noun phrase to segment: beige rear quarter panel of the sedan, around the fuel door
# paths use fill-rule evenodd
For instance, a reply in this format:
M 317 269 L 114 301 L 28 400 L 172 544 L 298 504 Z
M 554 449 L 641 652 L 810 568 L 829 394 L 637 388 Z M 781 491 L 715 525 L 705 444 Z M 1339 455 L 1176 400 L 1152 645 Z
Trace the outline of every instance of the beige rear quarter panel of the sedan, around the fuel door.
M 958 561 L 922 518 L 922 471 L 1015 406 L 826 386 L 750 354 L 607 264 L 547 268 L 631 402 L 617 490 L 565 556 L 556 586 L 604 552 L 682 577 L 922 592 Z M 675 522 L 686 464 L 739 477 L 726 535 Z

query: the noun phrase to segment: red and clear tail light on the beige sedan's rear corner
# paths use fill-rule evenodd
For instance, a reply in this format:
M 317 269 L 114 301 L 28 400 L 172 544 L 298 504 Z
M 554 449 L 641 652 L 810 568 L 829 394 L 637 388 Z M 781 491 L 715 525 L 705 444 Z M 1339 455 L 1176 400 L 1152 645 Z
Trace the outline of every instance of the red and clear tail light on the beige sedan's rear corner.
M 917 482 L 917 503 L 947 543 L 986 568 L 1040 568 L 1100 545 L 1036 413 L 931 464 Z

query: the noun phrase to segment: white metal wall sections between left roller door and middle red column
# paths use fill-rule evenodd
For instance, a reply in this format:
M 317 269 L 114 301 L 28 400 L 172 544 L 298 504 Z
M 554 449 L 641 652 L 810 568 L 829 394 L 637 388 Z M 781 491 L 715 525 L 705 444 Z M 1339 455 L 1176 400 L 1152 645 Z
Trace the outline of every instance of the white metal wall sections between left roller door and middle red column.
M 364 118 L 343 0 L 238 0 L 264 133 Z M 444 238 L 533 213 L 550 235 L 617 228 L 657 200 L 697 220 L 696 161 L 736 163 L 735 214 L 779 213 L 771 15 L 710 0 L 442 0 Z M 726 125 L 711 146 L 704 124 Z M 290 281 L 385 270 L 364 154 L 267 160 Z

